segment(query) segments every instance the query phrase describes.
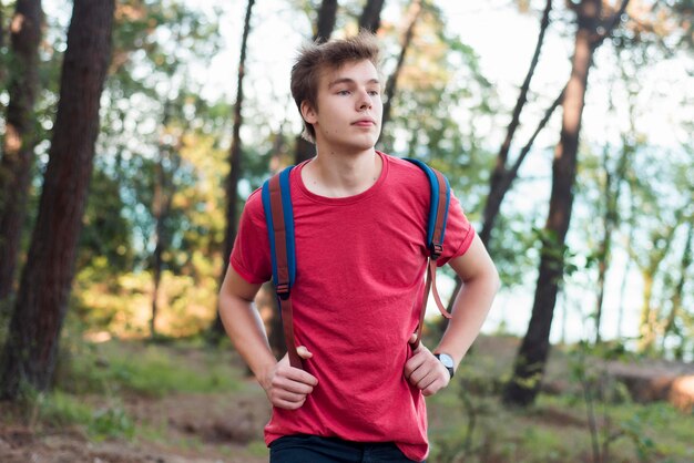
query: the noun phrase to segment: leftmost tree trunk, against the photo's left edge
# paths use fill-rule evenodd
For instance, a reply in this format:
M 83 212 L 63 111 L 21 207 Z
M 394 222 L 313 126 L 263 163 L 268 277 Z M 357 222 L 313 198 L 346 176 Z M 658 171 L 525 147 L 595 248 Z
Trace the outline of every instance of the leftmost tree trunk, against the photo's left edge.
M 18 0 L 10 28 L 12 62 L 3 155 L 0 161 L 0 307 L 14 284 L 35 140 L 39 91 L 40 0 Z

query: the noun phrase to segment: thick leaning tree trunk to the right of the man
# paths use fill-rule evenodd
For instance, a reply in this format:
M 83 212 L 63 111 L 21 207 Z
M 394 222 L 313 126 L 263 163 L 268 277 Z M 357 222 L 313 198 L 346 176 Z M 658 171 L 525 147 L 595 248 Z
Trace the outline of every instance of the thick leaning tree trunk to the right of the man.
M 544 227 L 545 236 L 540 257 L 540 271 L 528 332 L 518 351 L 513 378 L 507 384 L 507 403 L 528 405 L 540 390 L 540 382 L 550 350 L 550 328 L 557 302 L 557 291 L 564 269 L 564 240 L 571 220 L 573 183 L 575 179 L 581 115 L 591 66 L 601 0 L 583 0 L 578 7 L 575 49 L 571 79 L 563 103 L 562 130 L 552 164 L 552 193 Z

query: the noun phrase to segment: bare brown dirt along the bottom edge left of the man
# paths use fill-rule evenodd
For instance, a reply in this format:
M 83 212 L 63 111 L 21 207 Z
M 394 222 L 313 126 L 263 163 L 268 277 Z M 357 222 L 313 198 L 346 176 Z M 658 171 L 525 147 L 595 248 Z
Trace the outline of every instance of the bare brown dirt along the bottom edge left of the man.
M 131 442 L 90 442 L 78 428 L 37 430 L 0 425 L 2 463 L 264 463 L 263 426 L 269 409 L 259 388 L 243 394 L 130 398 L 124 408 L 139 429 Z M 1 410 L 1 409 L 0 409 Z

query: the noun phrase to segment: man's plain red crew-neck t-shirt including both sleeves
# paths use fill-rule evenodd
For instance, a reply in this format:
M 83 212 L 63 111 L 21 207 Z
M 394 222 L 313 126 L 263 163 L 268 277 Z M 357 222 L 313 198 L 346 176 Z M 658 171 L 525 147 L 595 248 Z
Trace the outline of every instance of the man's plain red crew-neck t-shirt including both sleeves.
M 407 161 L 378 153 L 376 184 L 343 198 L 310 193 L 290 173 L 296 243 L 292 288 L 297 346 L 313 357 L 305 369 L 318 385 L 300 409 L 275 408 L 265 442 L 289 434 L 395 442 L 411 460 L 428 454 L 421 392 L 404 375 L 411 357 L 427 264 L 429 182 Z M 439 266 L 462 255 L 474 236 L 451 195 Z M 248 282 L 272 278 L 267 227 L 259 191 L 246 203 L 232 251 Z

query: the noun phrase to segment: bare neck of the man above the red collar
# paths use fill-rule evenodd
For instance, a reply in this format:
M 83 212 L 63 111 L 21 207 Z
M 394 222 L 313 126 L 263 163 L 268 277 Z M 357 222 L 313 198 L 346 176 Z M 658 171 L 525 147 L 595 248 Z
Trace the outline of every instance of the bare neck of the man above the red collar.
M 348 197 L 370 188 L 382 168 L 382 161 L 370 148 L 351 155 L 320 151 L 302 169 L 304 184 L 312 193 L 327 197 Z

